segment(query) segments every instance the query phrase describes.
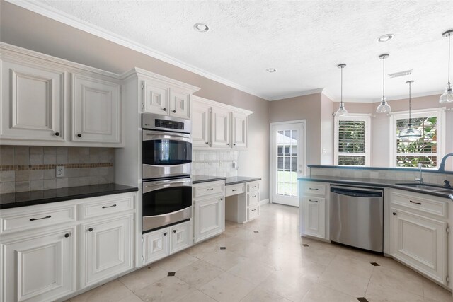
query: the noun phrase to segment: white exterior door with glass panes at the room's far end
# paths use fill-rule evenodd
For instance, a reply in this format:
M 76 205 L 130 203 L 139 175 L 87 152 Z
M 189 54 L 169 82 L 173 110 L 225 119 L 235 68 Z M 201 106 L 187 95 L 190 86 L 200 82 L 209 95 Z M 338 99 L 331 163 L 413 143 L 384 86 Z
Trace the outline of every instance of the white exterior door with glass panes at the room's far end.
M 304 153 L 304 122 L 270 124 L 270 202 L 299 207 L 297 178 L 304 175 Z

